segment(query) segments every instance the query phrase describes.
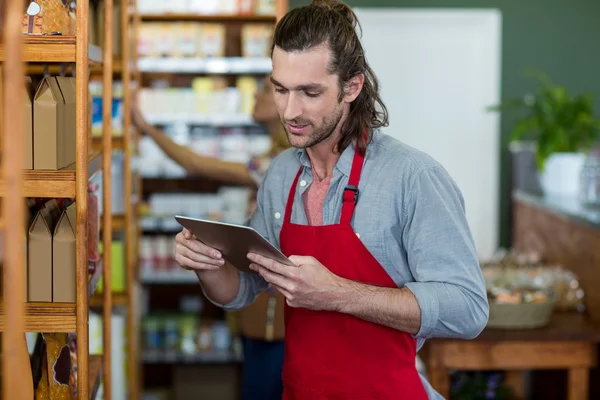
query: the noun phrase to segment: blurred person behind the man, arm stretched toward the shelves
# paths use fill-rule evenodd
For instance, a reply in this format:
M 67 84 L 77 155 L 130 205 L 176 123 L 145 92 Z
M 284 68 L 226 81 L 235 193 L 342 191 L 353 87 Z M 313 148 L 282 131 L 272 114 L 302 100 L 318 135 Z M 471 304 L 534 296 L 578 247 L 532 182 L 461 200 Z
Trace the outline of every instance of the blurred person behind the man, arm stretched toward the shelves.
M 243 185 L 256 189 L 271 160 L 289 147 L 273 99 L 273 87 L 264 80 L 257 91 L 252 118 L 265 126 L 271 137 L 267 154 L 254 157 L 249 163 L 227 162 L 194 153 L 175 143 L 164 132 L 148 124 L 142 113 L 133 108 L 133 124 L 175 162 L 194 176 L 218 180 L 228 185 Z M 254 204 L 251 206 L 254 208 Z M 249 210 L 251 212 L 252 210 Z M 242 376 L 243 400 L 281 400 L 283 384 L 283 305 L 285 298 L 275 290 L 263 292 L 255 303 L 240 310 L 239 322 L 244 355 Z

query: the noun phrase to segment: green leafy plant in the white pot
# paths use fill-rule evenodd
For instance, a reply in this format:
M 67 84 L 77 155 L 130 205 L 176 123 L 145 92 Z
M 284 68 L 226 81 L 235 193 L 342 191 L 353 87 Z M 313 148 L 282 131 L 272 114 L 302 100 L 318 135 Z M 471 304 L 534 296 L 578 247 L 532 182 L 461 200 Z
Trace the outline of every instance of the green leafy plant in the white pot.
M 541 171 L 553 153 L 589 150 L 599 137 L 600 120 L 593 116 L 591 94 L 573 96 L 545 74 L 533 72 L 532 75 L 541 83 L 537 93 L 511 99 L 489 110 L 520 112 L 511 139 L 535 141 L 536 161 Z

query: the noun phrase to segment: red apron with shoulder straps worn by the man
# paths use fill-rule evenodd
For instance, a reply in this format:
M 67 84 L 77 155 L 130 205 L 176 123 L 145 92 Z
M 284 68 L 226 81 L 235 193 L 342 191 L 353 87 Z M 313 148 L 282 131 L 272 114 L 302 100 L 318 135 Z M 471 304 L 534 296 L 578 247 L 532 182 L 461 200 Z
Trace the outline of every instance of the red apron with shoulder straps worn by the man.
M 350 225 L 363 161 L 356 152 L 335 225 L 290 222 L 300 167 L 287 200 L 281 249 L 287 257 L 313 256 L 346 279 L 397 287 Z M 415 358 L 416 340 L 408 333 L 347 314 L 285 305 L 284 400 L 427 399 Z

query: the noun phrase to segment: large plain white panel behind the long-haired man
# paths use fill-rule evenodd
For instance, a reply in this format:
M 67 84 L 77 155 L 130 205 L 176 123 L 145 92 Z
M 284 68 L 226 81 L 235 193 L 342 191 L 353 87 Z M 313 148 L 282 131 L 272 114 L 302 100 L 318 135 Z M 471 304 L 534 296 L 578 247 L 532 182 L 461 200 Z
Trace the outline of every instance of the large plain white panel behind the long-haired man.
M 386 132 L 438 160 L 459 185 L 480 257 L 499 224 L 501 16 L 496 10 L 356 9 L 390 114 Z

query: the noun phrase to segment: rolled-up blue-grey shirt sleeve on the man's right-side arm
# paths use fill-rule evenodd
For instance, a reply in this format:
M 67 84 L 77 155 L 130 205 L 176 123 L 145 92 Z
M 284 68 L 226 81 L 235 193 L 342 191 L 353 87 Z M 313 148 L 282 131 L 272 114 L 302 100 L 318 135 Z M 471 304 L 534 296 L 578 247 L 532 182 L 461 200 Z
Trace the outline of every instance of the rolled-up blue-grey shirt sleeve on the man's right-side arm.
M 403 242 L 415 279 L 405 286 L 421 309 L 415 337 L 477 337 L 489 305 L 460 190 L 434 166 L 416 174 L 404 199 Z

